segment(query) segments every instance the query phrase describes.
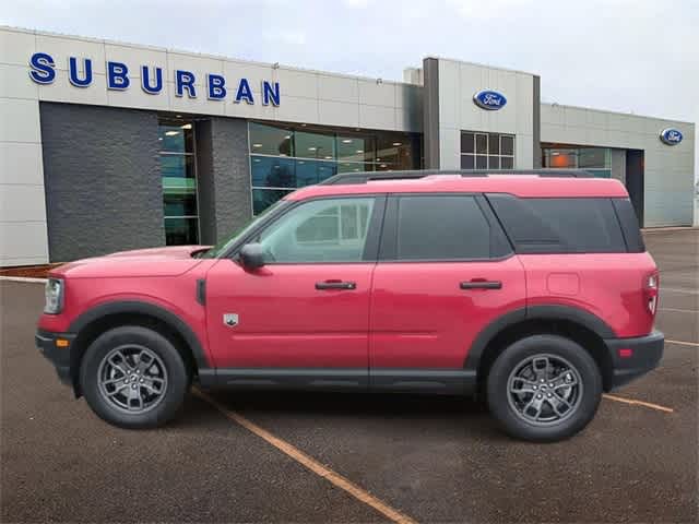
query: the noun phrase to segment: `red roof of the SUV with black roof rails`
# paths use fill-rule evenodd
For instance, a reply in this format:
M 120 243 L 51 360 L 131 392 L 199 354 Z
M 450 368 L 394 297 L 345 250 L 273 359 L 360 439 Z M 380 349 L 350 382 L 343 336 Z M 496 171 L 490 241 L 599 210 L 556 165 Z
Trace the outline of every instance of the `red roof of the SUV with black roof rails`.
M 546 176 L 531 174 L 464 175 L 459 171 L 439 174 L 412 171 L 407 178 L 380 178 L 347 183 L 339 179 L 331 183 L 308 186 L 285 196 L 285 200 L 306 200 L 317 196 L 384 193 L 510 193 L 522 198 L 628 198 L 624 184 L 616 179 L 577 176 Z M 341 177 L 340 175 L 337 176 Z M 334 178 L 334 177 L 333 177 Z

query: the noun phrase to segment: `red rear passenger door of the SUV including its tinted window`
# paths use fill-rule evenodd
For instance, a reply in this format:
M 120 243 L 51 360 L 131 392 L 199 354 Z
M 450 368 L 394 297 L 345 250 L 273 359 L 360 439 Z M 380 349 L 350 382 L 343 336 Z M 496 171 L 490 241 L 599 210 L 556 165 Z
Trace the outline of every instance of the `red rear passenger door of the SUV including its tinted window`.
M 524 271 L 482 195 L 389 198 L 371 294 L 372 385 L 441 388 L 477 334 L 524 305 Z

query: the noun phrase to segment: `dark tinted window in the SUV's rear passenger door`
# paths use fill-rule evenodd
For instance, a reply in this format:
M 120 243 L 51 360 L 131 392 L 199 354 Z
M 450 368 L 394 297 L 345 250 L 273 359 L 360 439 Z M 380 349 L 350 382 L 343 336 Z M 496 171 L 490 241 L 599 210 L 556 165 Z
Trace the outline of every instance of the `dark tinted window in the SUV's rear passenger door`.
M 384 260 L 488 259 L 511 251 L 473 195 L 396 196 L 387 213 Z

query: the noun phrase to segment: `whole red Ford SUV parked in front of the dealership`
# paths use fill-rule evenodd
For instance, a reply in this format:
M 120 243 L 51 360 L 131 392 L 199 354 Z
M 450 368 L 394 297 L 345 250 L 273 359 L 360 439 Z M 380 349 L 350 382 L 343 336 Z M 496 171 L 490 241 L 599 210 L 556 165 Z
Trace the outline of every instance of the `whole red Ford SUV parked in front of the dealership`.
M 509 434 L 554 441 L 659 364 L 657 293 L 616 180 L 347 174 L 213 248 L 54 270 L 36 343 L 122 427 L 167 421 L 197 381 L 478 394 Z

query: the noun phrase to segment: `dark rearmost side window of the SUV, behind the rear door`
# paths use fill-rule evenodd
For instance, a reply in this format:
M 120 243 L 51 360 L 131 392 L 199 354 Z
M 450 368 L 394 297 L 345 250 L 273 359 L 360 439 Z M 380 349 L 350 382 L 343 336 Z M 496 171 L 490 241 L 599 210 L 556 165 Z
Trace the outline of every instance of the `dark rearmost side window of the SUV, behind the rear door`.
M 617 253 L 627 247 L 611 199 L 489 194 L 518 253 Z

